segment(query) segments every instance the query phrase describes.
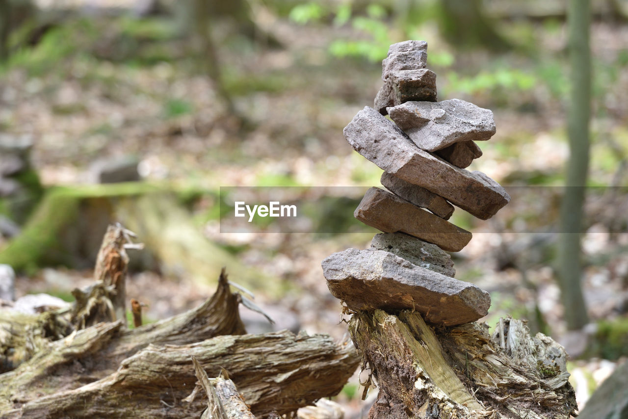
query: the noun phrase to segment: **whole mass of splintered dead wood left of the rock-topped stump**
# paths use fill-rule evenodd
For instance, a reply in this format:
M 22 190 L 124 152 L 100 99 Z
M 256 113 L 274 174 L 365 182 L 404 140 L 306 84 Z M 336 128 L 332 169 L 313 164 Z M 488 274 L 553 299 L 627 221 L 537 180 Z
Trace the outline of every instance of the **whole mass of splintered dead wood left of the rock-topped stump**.
M 247 335 L 242 297 L 230 291 L 224 269 L 211 298 L 174 317 L 141 325 L 141 303 L 133 300 L 136 328 L 127 329 L 119 302 L 127 241 L 121 226 L 109 227 L 96 282 L 75 293 L 72 310 L 23 319 L 16 329 L 23 334 L 30 325 L 40 332 L 56 326 L 50 340 L 33 340 L 28 357 L 0 374 L 0 418 L 176 419 L 203 411 L 213 418 L 220 409 L 225 417 L 264 418 L 337 395 L 354 373 L 359 356 L 350 341 L 286 330 Z M 205 395 L 192 397 L 197 378 Z

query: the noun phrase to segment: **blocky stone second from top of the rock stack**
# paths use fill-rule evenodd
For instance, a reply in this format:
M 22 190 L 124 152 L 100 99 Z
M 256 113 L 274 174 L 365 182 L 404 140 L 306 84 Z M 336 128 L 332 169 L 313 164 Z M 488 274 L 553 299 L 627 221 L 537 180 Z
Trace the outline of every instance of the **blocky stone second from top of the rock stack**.
M 408 101 L 436 102 L 436 73 L 427 68 L 389 72 L 388 79 L 377 96 L 373 107 L 382 115 L 386 108 Z

